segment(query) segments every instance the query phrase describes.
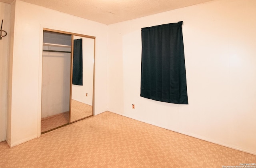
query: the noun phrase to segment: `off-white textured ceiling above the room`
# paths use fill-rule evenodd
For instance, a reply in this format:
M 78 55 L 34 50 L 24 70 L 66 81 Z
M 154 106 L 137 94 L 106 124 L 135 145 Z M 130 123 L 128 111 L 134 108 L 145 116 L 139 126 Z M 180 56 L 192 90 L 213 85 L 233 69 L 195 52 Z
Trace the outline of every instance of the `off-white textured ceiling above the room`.
M 0 0 L 11 3 L 14 0 Z M 212 0 L 21 0 L 103 24 L 113 24 Z

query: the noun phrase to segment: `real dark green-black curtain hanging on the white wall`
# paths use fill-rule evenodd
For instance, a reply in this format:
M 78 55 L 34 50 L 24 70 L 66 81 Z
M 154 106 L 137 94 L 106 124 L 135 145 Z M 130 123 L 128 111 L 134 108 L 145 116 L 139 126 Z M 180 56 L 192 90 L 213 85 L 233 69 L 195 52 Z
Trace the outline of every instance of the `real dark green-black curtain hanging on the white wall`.
M 182 21 L 142 28 L 140 96 L 188 104 Z

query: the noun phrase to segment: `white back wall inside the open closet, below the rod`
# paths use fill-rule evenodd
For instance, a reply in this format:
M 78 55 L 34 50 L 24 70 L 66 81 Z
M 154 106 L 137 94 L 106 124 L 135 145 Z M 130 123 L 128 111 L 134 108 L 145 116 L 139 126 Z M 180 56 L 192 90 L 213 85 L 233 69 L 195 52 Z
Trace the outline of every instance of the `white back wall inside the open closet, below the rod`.
M 41 118 L 69 112 L 71 54 L 44 51 L 42 59 Z

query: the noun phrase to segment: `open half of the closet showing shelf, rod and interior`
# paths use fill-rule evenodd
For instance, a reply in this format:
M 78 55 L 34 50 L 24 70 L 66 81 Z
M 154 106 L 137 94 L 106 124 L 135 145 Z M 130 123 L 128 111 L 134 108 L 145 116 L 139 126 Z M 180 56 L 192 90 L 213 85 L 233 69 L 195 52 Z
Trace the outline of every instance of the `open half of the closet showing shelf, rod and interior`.
M 69 123 L 72 35 L 44 30 L 41 132 Z

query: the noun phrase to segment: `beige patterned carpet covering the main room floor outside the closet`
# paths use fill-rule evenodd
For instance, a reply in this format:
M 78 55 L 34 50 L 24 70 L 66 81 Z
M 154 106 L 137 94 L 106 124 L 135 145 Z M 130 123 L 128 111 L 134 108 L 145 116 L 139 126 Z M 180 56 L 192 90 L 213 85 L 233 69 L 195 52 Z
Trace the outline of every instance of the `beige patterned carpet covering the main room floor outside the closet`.
M 222 168 L 255 161 L 255 155 L 111 112 L 13 148 L 0 142 L 1 168 Z

